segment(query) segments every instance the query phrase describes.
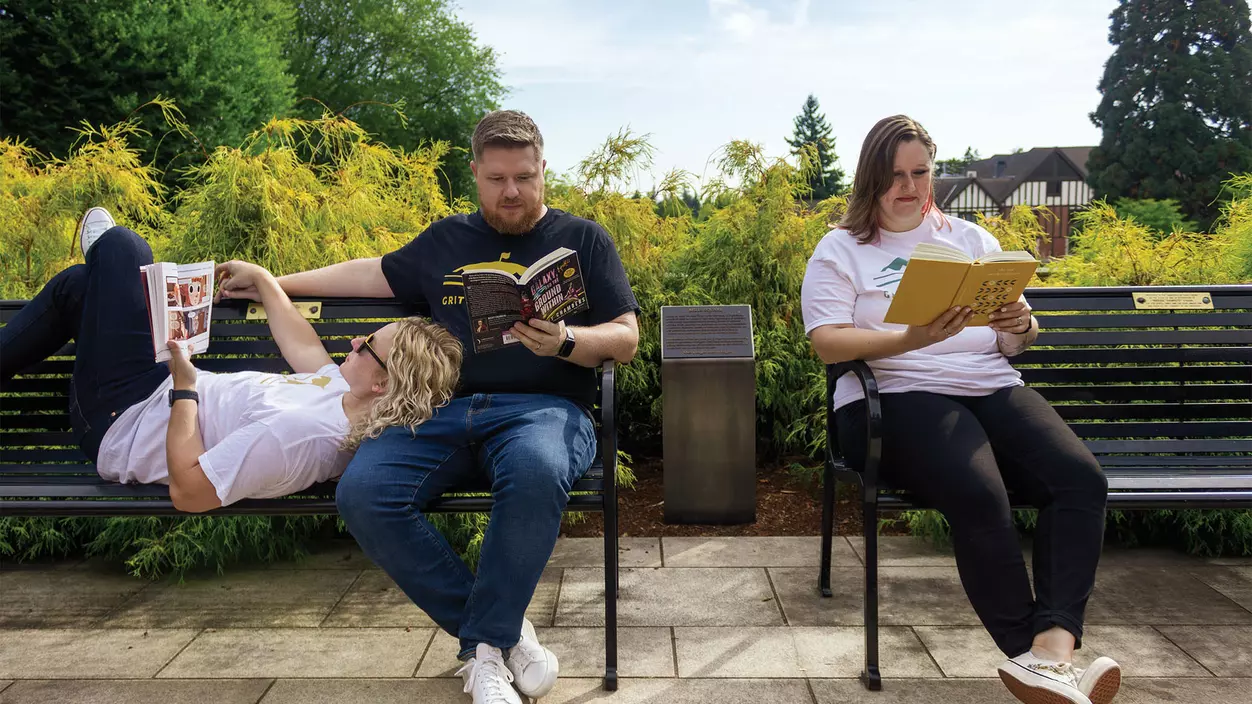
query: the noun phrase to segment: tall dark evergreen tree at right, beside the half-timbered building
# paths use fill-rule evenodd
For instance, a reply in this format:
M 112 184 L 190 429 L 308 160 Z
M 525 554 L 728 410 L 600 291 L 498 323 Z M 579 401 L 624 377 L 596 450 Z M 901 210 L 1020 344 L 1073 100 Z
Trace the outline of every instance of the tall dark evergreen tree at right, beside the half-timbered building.
M 1174 199 L 1212 223 L 1222 182 L 1252 170 L 1246 0 L 1122 0 L 1092 122 L 1088 178 L 1104 198 Z

